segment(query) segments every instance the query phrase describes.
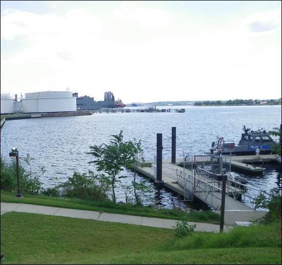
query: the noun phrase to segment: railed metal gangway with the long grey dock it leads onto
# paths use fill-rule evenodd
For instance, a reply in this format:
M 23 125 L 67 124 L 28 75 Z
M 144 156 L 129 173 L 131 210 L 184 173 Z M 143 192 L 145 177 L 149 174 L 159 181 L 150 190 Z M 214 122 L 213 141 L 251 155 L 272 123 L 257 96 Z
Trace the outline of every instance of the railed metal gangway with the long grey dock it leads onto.
M 147 177 L 156 180 L 153 167 L 137 167 L 136 169 Z M 195 196 L 216 211 L 220 210 L 222 197 L 221 181 L 202 176 L 198 173 L 194 176 L 191 170 L 183 169 L 170 163 L 168 160 L 162 162 L 162 180 L 165 187 L 181 194 L 185 199 Z M 264 211 L 254 210 L 252 207 L 234 199 L 240 194 L 245 196 L 245 192 L 238 187 L 232 186 L 230 183 L 230 180 L 228 180 L 226 185 L 225 224 L 233 225 L 235 221 L 252 221 L 265 215 Z M 228 194 L 232 194 L 234 198 Z

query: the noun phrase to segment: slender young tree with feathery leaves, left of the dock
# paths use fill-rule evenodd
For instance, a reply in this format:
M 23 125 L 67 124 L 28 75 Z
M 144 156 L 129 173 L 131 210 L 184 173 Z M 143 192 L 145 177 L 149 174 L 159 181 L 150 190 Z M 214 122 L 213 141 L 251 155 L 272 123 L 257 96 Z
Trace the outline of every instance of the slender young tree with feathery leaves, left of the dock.
M 112 200 L 115 203 L 115 184 L 119 181 L 120 173 L 125 167 L 129 167 L 134 161 L 136 146 L 135 142 L 123 141 L 123 131 L 121 130 L 118 135 L 112 135 L 110 144 L 102 144 L 100 146 L 90 146 L 91 151 L 88 154 L 93 155 L 96 159 L 88 162 L 89 164 L 95 164 L 98 171 L 103 171 L 107 175 L 111 183 Z

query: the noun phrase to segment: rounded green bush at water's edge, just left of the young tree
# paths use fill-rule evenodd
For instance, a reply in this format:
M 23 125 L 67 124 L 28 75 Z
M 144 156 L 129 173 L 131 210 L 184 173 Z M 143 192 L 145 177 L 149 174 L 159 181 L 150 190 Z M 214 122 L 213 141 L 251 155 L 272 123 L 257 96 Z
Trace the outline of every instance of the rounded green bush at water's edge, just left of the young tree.
M 60 184 L 62 196 L 80 198 L 83 200 L 107 200 L 107 192 L 110 188 L 108 179 L 103 175 L 95 175 L 92 171 L 80 174 L 75 172 L 73 177 Z

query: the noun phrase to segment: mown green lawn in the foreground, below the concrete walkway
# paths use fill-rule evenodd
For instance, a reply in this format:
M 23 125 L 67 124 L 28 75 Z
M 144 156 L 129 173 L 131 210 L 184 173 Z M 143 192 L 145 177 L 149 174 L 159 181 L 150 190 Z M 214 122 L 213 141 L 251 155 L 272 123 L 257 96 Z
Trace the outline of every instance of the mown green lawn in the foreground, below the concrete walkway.
M 172 229 L 13 212 L 1 216 L 1 253 L 2 264 L 281 264 L 281 225 L 179 239 Z

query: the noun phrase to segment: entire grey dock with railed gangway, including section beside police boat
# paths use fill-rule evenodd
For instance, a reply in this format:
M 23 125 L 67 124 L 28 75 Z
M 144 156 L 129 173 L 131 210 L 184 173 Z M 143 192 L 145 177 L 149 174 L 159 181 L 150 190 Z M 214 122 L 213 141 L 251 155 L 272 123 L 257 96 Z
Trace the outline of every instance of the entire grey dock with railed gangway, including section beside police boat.
M 228 157 L 228 159 L 229 158 L 230 157 Z M 231 164 L 233 163 L 233 167 L 246 167 L 247 170 L 256 172 L 258 167 L 253 167 L 245 163 L 264 163 L 274 161 L 275 158 L 276 155 L 261 155 L 260 157 L 255 155 L 232 156 Z M 162 160 L 162 185 L 182 195 L 184 200 L 191 197 L 191 195 L 192 198 L 195 196 L 219 213 L 222 198 L 222 182 L 207 176 L 199 176 L 199 174 L 196 176 L 197 174 L 193 173 L 191 170 L 181 167 L 181 163 L 183 165 L 183 160 L 181 159 L 177 159 L 175 164 L 172 164 L 171 160 Z M 136 166 L 136 170 L 139 174 L 156 181 L 153 161 L 139 164 L 139 166 Z M 233 225 L 236 221 L 249 222 L 264 216 L 265 211 L 254 210 L 251 204 L 247 205 L 236 199 L 240 194 L 241 196 L 247 197 L 248 195 L 246 195 L 246 189 L 242 190 L 243 184 L 240 185 L 240 183 L 233 181 L 234 183 L 238 183 L 238 186 L 236 186 L 237 184 L 234 186 L 231 182 L 232 180 L 227 180 L 226 184 L 225 224 Z M 249 186 L 245 187 L 254 189 Z

